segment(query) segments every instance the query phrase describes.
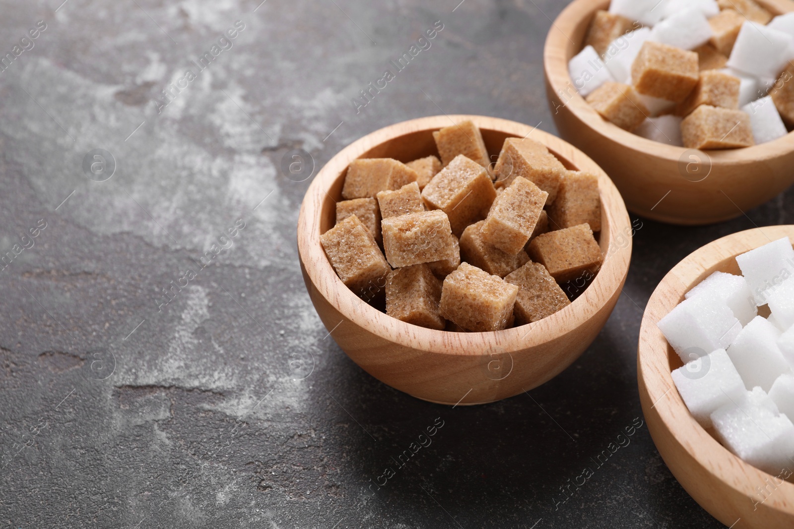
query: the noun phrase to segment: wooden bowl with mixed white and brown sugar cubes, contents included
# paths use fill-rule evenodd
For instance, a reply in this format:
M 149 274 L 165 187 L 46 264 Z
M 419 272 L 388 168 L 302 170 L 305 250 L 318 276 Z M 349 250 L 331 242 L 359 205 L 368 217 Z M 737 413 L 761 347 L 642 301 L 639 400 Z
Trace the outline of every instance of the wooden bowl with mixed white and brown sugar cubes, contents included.
M 544 61 L 561 137 L 638 215 L 721 222 L 794 182 L 792 0 L 575 0 Z

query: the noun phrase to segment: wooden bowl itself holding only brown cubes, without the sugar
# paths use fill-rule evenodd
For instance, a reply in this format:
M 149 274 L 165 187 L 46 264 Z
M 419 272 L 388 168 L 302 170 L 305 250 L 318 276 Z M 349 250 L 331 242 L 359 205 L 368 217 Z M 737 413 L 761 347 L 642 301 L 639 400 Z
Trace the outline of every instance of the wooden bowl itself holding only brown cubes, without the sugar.
M 472 120 L 495 155 L 507 137 L 531 136 L 569 169 L 599 175 L 605 255 L 592 284 L 571 305 L 534 324 L 499 332 L 459 333 L 417 327 L 367 305 L 337 277 L 320 244 L 333 227 L 346 170 L 357 158 L 403 162 L 436 154 L 432 132 Z M 565 370 L 592 343 L 615 308 L 629 268 L 626 206 L 601 169 L 581 151 L 527 125 L 481 116 L 435 116 L 381 128 L 349 145 L 314 178 L 298 220 L 303 279 L 314 308 L 339 347 L 369 374 L 426 401 L 480 404 L 534 388 Z

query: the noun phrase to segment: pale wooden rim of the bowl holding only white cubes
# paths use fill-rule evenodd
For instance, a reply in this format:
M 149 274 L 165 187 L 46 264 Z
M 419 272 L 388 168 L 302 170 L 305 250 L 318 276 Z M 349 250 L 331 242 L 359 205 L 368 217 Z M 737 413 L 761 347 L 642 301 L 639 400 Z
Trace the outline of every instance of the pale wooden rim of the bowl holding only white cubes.
M 763 484 L 771 474 L 757 469 L 732 454 L 717 441 L 689 412 L 684 400 L 675 389 L 670 374 L 670 358 L 676 355 L 669 347 L 657 322 L 684 300 L 684 293 L 705 279 L 715 269 L 722 267 L 736 255 L 781 239 L 794 238 L 794 225 L 767 226 L 736 232 L 712 241 L 693 251 L 676 264 L 661 280 L 649 298 L 642 315 L 637 350 L 637 377 L 643 412 L 646 417 L 655 412 L 666 433 L 673 435 L 676 443 L 701 466 L 724 485 L 750 498 L 758 496 L 754 485 Z M 646 407 L 649 406 L 650 408 Z M 657 439 L 654 442 L 658 444 Z M 794 470 L 794 466 L 792 469 Z M 787 515 L 794 514 L 794 483 L 775 482 L 777 490 L 763 502 Z

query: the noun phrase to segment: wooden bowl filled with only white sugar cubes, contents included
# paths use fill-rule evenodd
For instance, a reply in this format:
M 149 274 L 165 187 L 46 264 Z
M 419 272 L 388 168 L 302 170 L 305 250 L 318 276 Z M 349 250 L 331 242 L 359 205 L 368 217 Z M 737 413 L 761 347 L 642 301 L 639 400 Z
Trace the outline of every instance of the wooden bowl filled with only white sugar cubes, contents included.
M 789 225 L 707 244 L 665 276 L 642 319 L 650 434 L 727 527 L 794 527 L 792 240 Z

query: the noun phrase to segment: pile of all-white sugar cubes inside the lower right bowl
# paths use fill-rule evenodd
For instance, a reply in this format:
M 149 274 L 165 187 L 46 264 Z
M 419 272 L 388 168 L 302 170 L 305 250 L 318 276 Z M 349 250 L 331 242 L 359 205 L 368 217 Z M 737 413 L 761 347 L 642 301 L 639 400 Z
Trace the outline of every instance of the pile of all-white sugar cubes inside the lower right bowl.
M 711 274 L 657 325 L 684 362 L 673 381 L 692 416 L 779 475 L 794 467 L 794 249 L 786 237 L 736 261 L 743 275 Z

